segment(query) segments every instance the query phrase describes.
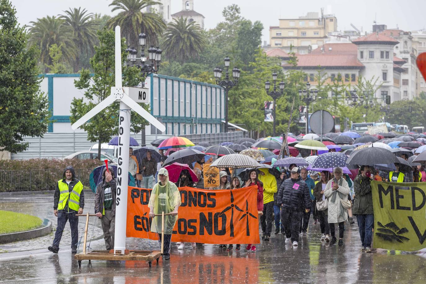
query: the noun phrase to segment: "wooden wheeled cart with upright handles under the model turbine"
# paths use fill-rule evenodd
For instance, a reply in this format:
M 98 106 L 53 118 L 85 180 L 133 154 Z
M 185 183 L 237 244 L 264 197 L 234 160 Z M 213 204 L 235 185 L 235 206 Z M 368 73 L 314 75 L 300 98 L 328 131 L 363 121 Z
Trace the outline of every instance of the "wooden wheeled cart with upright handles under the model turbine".
M 158 261 L 163 254 L 164 250 L 164 215 L 171 215 L 171 213 L 158 214 L 155 216 L 161 216 L 162 227 L 161 227 L 161 251 L 150 251 L 150 250 L 125 250 L 124 254 L 115 253 L 114 250 L 92 250 L 86 252 L 87 242 L 87 227 L 89 226 L 89 217 L 96 216 L 95 214 L 76 214 L 76 216 L 86 216 L 86 225 L 84 227 L 84 242 L 83 252 L 74 255 L 74 259 L 78 261 L 78 266 L 81 267 L 82 260 L 113 260 L 113 261 L 148 261 L 148 265 L 151 267 L 154 260 Z

